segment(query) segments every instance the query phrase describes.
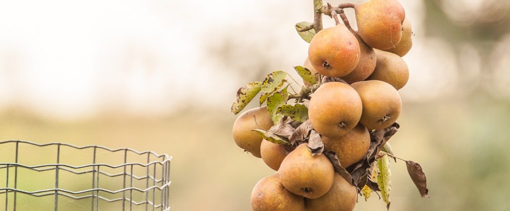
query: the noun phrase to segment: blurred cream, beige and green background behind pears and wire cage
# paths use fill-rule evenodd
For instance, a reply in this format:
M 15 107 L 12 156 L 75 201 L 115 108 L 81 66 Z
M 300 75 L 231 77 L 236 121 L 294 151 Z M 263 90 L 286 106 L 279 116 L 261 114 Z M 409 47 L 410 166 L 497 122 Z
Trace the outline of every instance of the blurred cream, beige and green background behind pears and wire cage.
M 416 36 L 391 143 L 431 199 L 392 162 L 391 209 L 510 209 L 510 1 L 401 4 Z M 0 140 L 166 153 L 172 210 L 250 210 L 274 171 L 234 143 L 230 107 L 269 72 L 298 77 L 300 21 L 312 0 L 0 1 Z M 385 209 L 377 195 L 355 208 Z

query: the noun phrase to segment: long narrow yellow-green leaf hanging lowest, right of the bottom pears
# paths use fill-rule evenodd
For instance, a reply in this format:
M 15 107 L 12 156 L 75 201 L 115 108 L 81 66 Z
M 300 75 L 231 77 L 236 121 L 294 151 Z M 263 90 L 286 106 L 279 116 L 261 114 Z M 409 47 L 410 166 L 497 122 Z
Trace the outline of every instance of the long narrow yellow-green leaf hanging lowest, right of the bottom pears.
M 390 157 L 384 155 L 377 159 L 377 167 L 379 168 L 379 175 L 377 176 L 377 185 L 381 190 L 382 200 L 386 202 L 386 208 L 390 210 L 390 190 L 391 190 L 391 170 L 390 170 Z

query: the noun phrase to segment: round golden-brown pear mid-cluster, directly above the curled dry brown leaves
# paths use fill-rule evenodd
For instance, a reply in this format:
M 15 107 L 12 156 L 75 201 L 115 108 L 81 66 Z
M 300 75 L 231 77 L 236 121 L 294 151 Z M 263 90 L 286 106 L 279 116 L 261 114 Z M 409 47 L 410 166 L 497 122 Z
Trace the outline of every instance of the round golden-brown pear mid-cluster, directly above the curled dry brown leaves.
M 322 84 L 313 94 L 308 106 L 310 124 L 327 137 L 345 135 L 358 125 L 363 111 L 360 96 L 341 82 Z

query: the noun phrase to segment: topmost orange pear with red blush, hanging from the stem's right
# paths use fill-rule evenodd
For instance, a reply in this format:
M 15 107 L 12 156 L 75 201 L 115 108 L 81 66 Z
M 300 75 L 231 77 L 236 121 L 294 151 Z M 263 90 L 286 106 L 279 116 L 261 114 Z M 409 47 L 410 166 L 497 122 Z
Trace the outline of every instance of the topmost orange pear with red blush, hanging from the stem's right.
M 370 0 L 354 6 L 361 38 L 372 48 L 390 49 L 402 38 L 405 11 L 397 0 Z

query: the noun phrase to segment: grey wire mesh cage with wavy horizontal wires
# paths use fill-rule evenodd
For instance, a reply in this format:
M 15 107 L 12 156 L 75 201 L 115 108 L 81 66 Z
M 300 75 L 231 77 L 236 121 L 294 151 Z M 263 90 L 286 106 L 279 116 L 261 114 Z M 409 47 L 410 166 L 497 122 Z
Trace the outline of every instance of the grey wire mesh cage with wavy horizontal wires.
M 170 210 L 172 157 L 129 148 L 0 142 L 0 210 Z

